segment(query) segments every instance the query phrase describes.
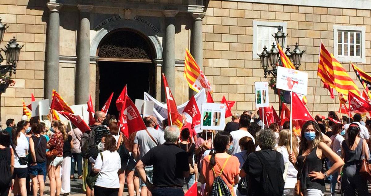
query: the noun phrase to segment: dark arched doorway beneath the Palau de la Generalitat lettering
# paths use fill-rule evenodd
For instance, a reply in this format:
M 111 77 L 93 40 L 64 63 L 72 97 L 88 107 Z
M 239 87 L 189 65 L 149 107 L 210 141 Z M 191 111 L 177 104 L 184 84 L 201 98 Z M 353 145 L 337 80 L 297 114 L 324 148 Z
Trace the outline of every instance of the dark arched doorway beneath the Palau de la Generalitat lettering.
M 115 101 L 127 85 L 129 97 L 155 95 L 155 49 L 148 37 L 132 29 L 117 29 L 101 40 L 97 50 L 96 104 L 100 109 L 112 92 L 108 113 L 118 115 Z M 99 106 L 98 106 L 99 105 Z

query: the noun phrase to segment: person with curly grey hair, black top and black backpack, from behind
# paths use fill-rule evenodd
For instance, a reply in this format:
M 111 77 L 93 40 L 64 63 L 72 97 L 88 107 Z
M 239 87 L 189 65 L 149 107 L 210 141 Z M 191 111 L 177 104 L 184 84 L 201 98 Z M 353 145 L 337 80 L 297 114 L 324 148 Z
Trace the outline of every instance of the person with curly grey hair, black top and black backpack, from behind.
M 270 196 L 282 196 L 285 171 L 282 154 L 273 150 L 276 145 L 276 136 L 270 129 L 260 130 L 257 134 L 257 144 L 262 150 L 250 153 L 240 171 L 240 177 L 249 176 L 249 195 L 265 195 L 269 186 L 276 194 Z M 262 175 L 264 173 L 264 175 Z M 268 179 L 275 179 L 270 180 Z

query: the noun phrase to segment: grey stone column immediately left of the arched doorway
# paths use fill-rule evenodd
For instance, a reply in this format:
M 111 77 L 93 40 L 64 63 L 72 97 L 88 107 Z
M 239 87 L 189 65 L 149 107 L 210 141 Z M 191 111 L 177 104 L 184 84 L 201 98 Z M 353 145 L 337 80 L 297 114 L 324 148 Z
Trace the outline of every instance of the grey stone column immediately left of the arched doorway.
M 80 28 L 78 34 L 78 55 L 75 74 L 75 104 L 86 104 L 89 98 L 90 64 L 90 11 L 93 6 L 78 5 Z

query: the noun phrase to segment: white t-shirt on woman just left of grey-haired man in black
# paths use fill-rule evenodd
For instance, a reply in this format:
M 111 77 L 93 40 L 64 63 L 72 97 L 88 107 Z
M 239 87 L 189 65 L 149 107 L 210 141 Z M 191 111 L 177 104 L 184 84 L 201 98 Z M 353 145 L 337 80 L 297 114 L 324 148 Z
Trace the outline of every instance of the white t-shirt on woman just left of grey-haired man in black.
M 105 188 L 117 189 L 120 187 L 120 182 L 118 179 L 118 170 L 121 168 L 121 159 L 117 151 L 113 153 L 109 150 L 102 152 L 103 161 L 101 158 L 101 153 L 98 153 L 94 163 L 94 169 L 100 169 L 98 179 L 95 185 Z

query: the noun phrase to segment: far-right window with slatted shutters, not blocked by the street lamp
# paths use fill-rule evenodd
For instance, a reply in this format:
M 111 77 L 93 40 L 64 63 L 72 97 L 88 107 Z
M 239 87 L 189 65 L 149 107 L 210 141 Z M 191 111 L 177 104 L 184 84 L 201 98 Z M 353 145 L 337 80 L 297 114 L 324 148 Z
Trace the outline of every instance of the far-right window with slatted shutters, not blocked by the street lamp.
M 366 62 L 365 27 L 334 25 L 334 55 L 338 61 Z

